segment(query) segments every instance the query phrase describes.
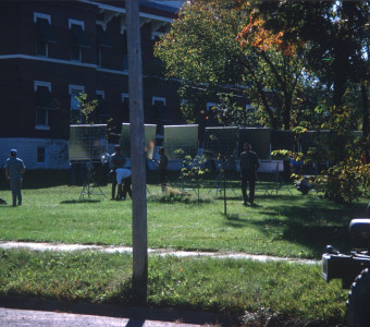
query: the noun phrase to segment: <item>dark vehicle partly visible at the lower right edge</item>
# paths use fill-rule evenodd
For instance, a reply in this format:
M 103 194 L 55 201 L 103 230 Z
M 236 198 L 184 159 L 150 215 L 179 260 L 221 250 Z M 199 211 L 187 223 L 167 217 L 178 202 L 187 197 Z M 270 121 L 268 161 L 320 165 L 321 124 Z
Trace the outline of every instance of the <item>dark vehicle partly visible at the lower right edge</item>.
M 355 246 L 349 254 L 326 246 L 322 255 L 322 277 L 329 282 L 342 279 L 342 287 L 350 289 L 347 300 L 349 327 L 370 326 L 370 203 L 366 213 L 369 218 L 353 219 L 349 233 Z

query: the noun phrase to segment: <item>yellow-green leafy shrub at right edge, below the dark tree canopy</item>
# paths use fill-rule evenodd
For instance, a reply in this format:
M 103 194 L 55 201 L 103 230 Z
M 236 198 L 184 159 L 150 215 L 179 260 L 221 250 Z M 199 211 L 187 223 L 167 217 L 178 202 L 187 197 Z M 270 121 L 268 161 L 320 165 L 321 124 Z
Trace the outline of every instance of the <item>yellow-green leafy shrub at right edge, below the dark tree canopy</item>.
M 370 138 L 354 135 L 355 119 L 351 116 L 356 116 L 356 111 L 344 109 L 317 108 L 318 112 L 328 112 L 319 128 L 330 132 L 324 140 L 317 140 L 310 156 L 316 160 L 330 161 L 328 170 L 318 179 L 324 185 L 325 197 L 338 203 L 351 203 L 369 191 L 370 164 L 363 160 L 363 153 L 370 147 Z

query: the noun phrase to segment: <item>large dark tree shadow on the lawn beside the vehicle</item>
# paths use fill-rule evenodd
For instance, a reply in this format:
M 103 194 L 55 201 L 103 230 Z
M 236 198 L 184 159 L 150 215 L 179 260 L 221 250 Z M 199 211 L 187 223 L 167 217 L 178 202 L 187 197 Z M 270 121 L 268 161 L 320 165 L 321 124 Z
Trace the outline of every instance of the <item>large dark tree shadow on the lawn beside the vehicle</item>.
M 305 198 L 305 203 L 297 196 L 280 195 L 279 197 L 282 202 L 278 206 L 257 207 L 256 216 L 250 215 L 249 210 L 245 215 L 247 218 L 243 218 L 244 215 L 230 214 L 224 223 L 232 228 L 256 228 L 272 242 L 299 243 L 309 247 L 317 258 L 325 252 L 328 244 L 344 253 L 351 250 L 348 226 L 351 219 L 365 216 L 363 204 L 340 206 L 313 197 Z M 256 217 L 266 217 L 266 219 Z

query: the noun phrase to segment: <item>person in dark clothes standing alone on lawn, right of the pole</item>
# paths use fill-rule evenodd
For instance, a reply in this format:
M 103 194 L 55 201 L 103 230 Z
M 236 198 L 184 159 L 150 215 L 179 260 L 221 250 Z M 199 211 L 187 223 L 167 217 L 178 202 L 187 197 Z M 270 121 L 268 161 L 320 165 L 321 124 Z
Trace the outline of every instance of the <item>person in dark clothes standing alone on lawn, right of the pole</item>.
M 244 152 L 239 159 L 240 165 L 240 178 L 242 178 L 242 194 L 243 205 L 247 205 L 249 199 L 250 205 L 254 205 L 255 201 L 255 186 L 256 186 L 256 173 L 259 168 L 258 156 L 251 150 L 249 143 L 244 144 Z M 247 196 L 247 184 L 249 183 L 249 198 Z

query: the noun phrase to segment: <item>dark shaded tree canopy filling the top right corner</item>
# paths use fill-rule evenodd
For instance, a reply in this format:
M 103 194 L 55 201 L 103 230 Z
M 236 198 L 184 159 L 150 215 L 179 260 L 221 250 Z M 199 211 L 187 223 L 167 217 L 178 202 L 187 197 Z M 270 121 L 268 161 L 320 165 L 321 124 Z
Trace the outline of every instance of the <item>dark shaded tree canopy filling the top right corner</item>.
M 263 1 L 259 12 L 264 28 L 274 35 L 284 31 L 286 41 L 305 44 L 307 71 L 320 81 L 317 86 L 325 87 L 337 110 L 347 105 L 348 86 L 357 85 L 361 126 L 368 135 L 370 2 Z

